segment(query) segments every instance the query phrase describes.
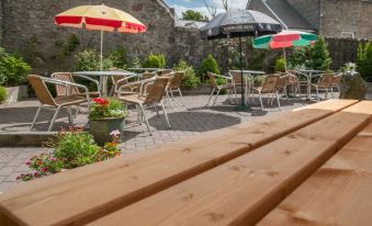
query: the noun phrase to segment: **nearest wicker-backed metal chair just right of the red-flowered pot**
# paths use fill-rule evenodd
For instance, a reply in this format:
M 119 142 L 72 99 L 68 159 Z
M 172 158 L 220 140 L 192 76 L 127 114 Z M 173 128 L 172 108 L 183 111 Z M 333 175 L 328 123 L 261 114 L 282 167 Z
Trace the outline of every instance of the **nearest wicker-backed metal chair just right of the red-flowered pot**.
M 161 106 L 162 112 L 165 114 L 166 121 L 167 121 L 167 125 L 170 128 L 170 123 L 169 123 L 169 118 L 165 109 L 165 105 L 162 103 L 162 98 L 164 98 L 164 93 L 166 92 L 168 82 L 170 80 L 170 78 L 168 77 L 157 77 L 155 79 L 150 79 L 153 81 L 148 81 L 146 83 L 142 83 L 142 89 L 144 90 L 145 94 L 138 94 L 138 95 L 119 95 L 119 100 L 123 101 L 124 103 L 128 103 L 128 104 L 135 104 L 137 106 L 138 110 L 138 115 L 140 115 L 140 120 L 139 122 L 143 121 L 143 118 L 145 120 L 148 133 L 150 135 L 153 135 L 148 120 L 146 117 L 145 114 L 145 109 L 148 108 L 155 108 L 155 110 L 157 111 L 157 115 L 159 116 L 159 112 L 158 112 L 158 104 Z M 151 86 L 150 91 L 146 91 L 146 87 Z

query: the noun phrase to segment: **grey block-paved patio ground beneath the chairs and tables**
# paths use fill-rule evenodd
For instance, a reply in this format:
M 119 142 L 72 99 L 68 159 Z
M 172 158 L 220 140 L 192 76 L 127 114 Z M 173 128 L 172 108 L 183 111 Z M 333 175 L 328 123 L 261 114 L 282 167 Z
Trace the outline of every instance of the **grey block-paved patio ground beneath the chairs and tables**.
M 264 112 L 260 111 L 259 104 L 253 104 L 249 112 L 236 112 L 235 106 L 228 105 L 227 97 L 222 95 L 218 98 L 216 105 L 205 108 L 207 95 L 185 97 L 184 106 L 180 104 L 177 98 L 172 105 L 167 108 L 171 129 L 168 129 L 165 123 L 165 117 L 160 113 L 157 117 L 156 112 L 148 110 L 147 116 L 154 136 L 149 136 L 146 125 L 136 125 L 136 112 L 129 110 L 129 117 L 126 125 L 126 131 L 123 134 L 121 149 L 123 155 L 145 150 L 148 148 L 159 147 L 180 139 L 187 139 L 198 136 L 202 133 L 233 126 L 239 123 L 251 122 L 260 117 L 269 117 L 270 115 L 278 114 L 278 108 L 267 105 Z M 307 102 L 308 103 L 308 102 Z M 290 111 L 303 106 L 300 101 L 282 101 L 282 111 Z M 36 100 L 26 100 L 10 105 L 0 106 L 0 133 L 22 132 L 27 131 L 32 118 L 36 112 L 38 102 Z M 47 121 L 50 117 L 49 111 L 44 111 L 41 115 L 41 123 L 37 124 L 36 131 L 43 131 L 47 126 Z M 66 112 L 59 114 L 55 131 L 60 127 L 67 127 Z M 83 125 L 87 123 L 87 109 L 81 109 L 81 114 L 77 117 L 77 124 Z M 30 157 L 49 151 L 45 148 L 18 148 L 18 147 L 2 147 L 0 148 L 0 192 L 8 190 L 15 185 L 18 182 L 15 178 L 20 173 L 27 172 L 25 166 L 26 159 Z

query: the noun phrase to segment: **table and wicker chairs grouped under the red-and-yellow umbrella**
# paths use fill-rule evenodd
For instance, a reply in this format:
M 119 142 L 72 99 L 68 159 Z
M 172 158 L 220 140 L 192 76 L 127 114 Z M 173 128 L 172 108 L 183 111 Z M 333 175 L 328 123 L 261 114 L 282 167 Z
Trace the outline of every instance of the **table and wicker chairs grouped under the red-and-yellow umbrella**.
M 111 94 L 112 98 L 121 100 L 124 104 L 136 105 L 138 123 L 145 122 L 150 134 L 151 131 L 144 111 L 145 108 L 155 108 L 159 116 L 159 105 L 165 114 L 167 125 L 170 127 L 164 105 L 164 97 L 167 99 L 166 103 L 169 103 L 168 105 L 170 108 L 172 108 L 170 99 L 173 99 L 174 92 L 182 98 L 180 86 L 184 74 L 148 68 L 144 69 L 144 71 L 143 74 L 135 74 L 112 68 L 111 71 L 55 72 L 50 78 L 34 75 L 29 76 L 29 81 L 41 102 L 31 131 L 34 128 L 43 108 L 52 108 L 54 110 L 48 131 L 52 131 L 59 110 L 63 106 L 67 106 L 69 123 L 74 125 L 74 117 L 78 114 L 80 105 L 88 104 L 89 106 L 91 98 L 108 95 L 109 77 L 112 81 L 112 89 L 109 94 Z M 84 78 L 94 82 L 98 91 L 90 92 L 87 87 L 77 83 L 74 77 Z M 99 77 L 100 79 L 95 80 L 94 77 Z M 53 98 L 46 83 L 55 86 L 56 98 Z M 72 105 L 77 106 L 75 116 L 71 111 Z

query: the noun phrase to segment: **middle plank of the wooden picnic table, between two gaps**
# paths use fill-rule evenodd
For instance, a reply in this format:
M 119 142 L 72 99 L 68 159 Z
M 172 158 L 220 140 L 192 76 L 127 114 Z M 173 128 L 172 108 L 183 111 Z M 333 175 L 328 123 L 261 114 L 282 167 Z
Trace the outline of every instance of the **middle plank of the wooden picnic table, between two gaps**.
M 90 225 L 253 225 L 370 123 L 353 106 Z

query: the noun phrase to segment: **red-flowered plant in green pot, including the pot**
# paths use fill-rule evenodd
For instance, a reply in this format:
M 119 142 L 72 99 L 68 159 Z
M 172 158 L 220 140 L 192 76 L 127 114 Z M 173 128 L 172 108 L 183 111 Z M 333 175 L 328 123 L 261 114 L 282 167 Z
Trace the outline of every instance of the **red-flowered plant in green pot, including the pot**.
M 95 98 L 89 108 L 90 133 L 99 145 L 111 140 L 110 133 L 119 131 L 123 133 L 126 106 L 121 101 L 106 98 Z

